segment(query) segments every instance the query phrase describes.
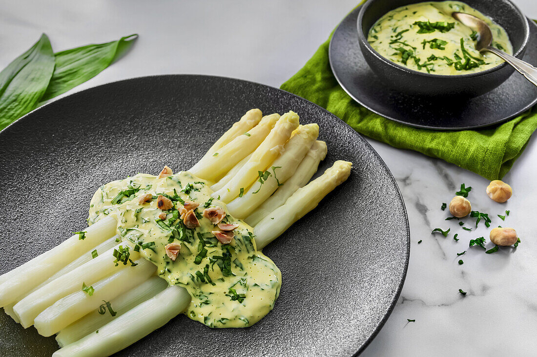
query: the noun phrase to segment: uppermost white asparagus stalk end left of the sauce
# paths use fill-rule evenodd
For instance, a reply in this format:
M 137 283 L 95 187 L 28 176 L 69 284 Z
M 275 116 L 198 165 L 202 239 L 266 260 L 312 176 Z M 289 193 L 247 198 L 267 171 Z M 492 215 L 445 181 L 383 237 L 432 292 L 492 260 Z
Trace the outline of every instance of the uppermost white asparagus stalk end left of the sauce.
M 85 229 L 84 240 L 75 234 L 58 246 L 3 274 L 0 277 L 0 307 L 17 301 L 20 296 L 30 292 L 84 252 L 113 236 L 116 226 L 115 219 L 106 217 Z M 28 248 L 29 253 L 32 250 L 33 248 Z

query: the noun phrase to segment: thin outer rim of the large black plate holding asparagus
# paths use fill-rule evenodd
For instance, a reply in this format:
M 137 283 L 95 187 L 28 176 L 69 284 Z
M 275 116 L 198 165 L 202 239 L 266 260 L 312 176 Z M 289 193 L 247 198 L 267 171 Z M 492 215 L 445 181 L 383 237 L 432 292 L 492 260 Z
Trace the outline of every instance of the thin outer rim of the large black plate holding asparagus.
M 287 92 L 287 91 L 284 91 L 284 90 L 282 90 L 280 88 L 272 87 L 272 86 L 269 86 L 269 85 L 266 85 L 266 84 L 261 84 L 261 83 L 257 83 L 257 82 L 254 82 L 254 81 L 244 80 L 244 79 L 238 79 L 238 78 L 232 78 L 232 77 L 224 77 L 224 76 L 212 76 L 212 75 L 195 75 L 195 74 L 171 74 L 171 75 L 141 76 L 141 77 L 132 77 L 132 78 L 127 78 L 127 79 L 121 79 L 121 80 L 117 80 L 117 81 L 112 81 L 112 82 L 105 83 L 105 84 L 100 84 L 100 85 L 97 85 L 97 86 L 86 88 L 86 89 L 84 89 L 82 91 L 77 91 L 77 92 L 71 93 L 69 95 L 62 96 L 62 98 L 52 100 L 52 101 L 46 103 L 45 105 L 30 111 L 29 113 L 27 113 L 24 116 L 18 118 L 16 121 L 12 122 L 7 127 L 2 129 L 0 131 L 0 139 L 2 139 L 2 137 L 4 135 L 8 135 L 8 133 L 6 132 L 7 128 L 10 128 L 12 126 L 17 127 L 17 125 L 25 125 L 26 122 L 28 121 L 27 118 L 30 117 L 32 113 L 34 113 L 35 111 L 41 111 L 41 110 L 43 110 L 43 108 L 47 107 L 48 105 L 51 105 L 52 103 L 54 103 L 56 101 L 61 101 L 64 98 L 68 98 L 68 97 L 70 97 L 72 95 L 79 95 L 79 94 L 81 94 L 83 92 L 97 91 L 101 87 L 117 85 L 119 83 L 124 83 L 124 82 L 127 83 L 129 81 L 143 80 L 143 79 L 146 79 L 146 78 L 158 79 L 158 78 L 163 78 L 163 77 L 177 78 L 179 80 L 181 78 L 186 78 L 186 77 L 198 77 L 198 78 L 201 77 L 201 78 L 214 78 L 214 79 L 217 79 L 217 80 L 240 81 L 240 82 L 243 82 L 243 83 L 249 83 L 249 84 L 253 84 L 253 85 L 256 85 L 256 86 L 269 88 L 269 90 L 283 92 L 286 95 L 294 96 L 295 98 L 297 98 L 297 99 L 299 99 L 301 101 L 307 102 L 308 105 L 313 105 L 313 106 L 317 107 L 318 109 L 320 109 L 322 111 L 325 111 L 326 113 L 328 113 L 329 116 L 335 118 L 337 121 L 342 123 L 344 126 L 349 127 L 349 129 L 351 129 L 351 131 L 354 132 L 354 134 L 357 137 L 357 139 L 361 140 L 366 145 L 366 147 L 368 147 L 369 150 L 371 150 L 371 152 L 373 153 L 374 157 L 379 160 L 380 165 L 384 168 L 384 170 L 386 170 L 386 173 L 388 174 L 388 179 L 390 180 L 390 182 L 393 185 L 395 185 L 395 188 L 397 189 L 397 193 L 398 193 L 397 197 L 401 200 L 401 204 L 402 204 L 402 207 L 403 207 L 404 221 L 406 223 L 406 228 L 407 228 L 406 229 L 407 232 L 405 234 L 406 241 L 407 241 L 407 244 L 406 244 L 407 254 L 405 256 L 404 269 L 403 269 L 403 272 L 402 272 L 401 281 L 397 285 L 396 291 L 394 293 L 393 299 L 389 303 L 388 309 L 384 312 L 384 315 L 382 316 L 382 319 L 376 325 L 375 329 L 369 335 L 369 337 L 364 341 L 364 343 L 362 343 L 359 347 L 357 347 L 357 351 L 353 354 L 353 356 L 357 356 L 360 353 L 362 353 L 364 351 L 364 349 L 371 343 L 371 341 L 380 332 L 380 330 L 382 329 L 382 327 L 384 326 L 384 324 L 386 323 L 386 321 L 390 317 L 392 311 L 394 310 L 395 305 L 397 303 L 397 300 L 399 299 L 399 296 L 401 295 L 401 291 L 403 289 L 404 281 L 407 278 L 408 265 L 409 265 L 409 260 L 410 260 L 410 224 L 409 224 L 409 220 L 408 220 L 407 206 L 405 205 L 403 195 L 401 194 L 401 190 L 399 189 L 399 185 L 397 184 L 397 181 L 395 181 L 394 175 L 391 173 L 390 169 L 386 165 L 386 162 L 384 162 L 384 160 L 382 160 L 382 158 L 380 157 L 379 153 L 376 152 L 376 150 L 373 148 L 373 146 L 371 144 L 369 144 L 369 142 L 367 142 L 367 140 L 364 137 L 362 137 L 362 135 L 360 135 L 359 132 L 355 131 L 349 124 L 345 123 L 343 120 L 341 120 L 338 116 L 336 116 L 335 114 L 331 113 L 330 111 L 328 111 L 328 110 L 324 109 L 323 107 L 315 104 L 314 102 L 311 102 L 311 101 L 309 101 L 307 99 L 304 99 L 301 96 L 298 96 L 298 95 L 296 95 L 294 93 Z

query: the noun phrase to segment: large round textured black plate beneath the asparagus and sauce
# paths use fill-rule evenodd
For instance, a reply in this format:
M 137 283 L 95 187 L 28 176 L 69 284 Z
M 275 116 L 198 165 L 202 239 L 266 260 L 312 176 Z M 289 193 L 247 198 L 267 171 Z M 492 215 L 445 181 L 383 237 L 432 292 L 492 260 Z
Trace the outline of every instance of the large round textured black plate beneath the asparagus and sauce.
M 321 127 L 320 172 L 354 164 L 343 185 L 265 248 L 283 276 L 274 310 L 248 329 L 210 329 L 180 315 L 122 356 L 345 356 L 388 318 L 409 258 L 401 194 L 378 154 L 328 111 L 237 79 L 157 76 L 79 92 L 0 132 L 0 273 L 85 227 L 101 183 L 164 164 L 188 169 L 246 110 L 294 110 Z M 30 247 L 27 249 L 26 247 Z M 0 355 L 49 356 L 53 338 L 0 313 Z

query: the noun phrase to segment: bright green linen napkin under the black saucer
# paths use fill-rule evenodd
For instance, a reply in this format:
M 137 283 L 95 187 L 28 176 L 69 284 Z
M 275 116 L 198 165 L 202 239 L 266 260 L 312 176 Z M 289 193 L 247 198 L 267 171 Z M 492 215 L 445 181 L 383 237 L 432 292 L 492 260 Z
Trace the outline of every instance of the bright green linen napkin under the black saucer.
M 483 130 L 435 131 L 388 120 L 359 105 L 339 86 L 328 60 L 330 38 L 281 89 L 331 111 L 363 135 L 440 158 L 496 180 L 511 169 L 537 129 L 537 106 L 497 127 Z

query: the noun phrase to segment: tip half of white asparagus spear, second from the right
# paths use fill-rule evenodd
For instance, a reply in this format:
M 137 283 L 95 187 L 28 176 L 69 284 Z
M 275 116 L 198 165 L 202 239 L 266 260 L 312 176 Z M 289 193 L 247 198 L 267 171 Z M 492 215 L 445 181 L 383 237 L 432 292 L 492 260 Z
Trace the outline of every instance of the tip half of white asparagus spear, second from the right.
M 274 194 L 267 198 L 257 209 L 250 213 L 244 220 L 247 224 L 254 227 L 267 214 L 283 205 L 287 198 L 291 197 L 295 191 L 308 183 L 310 178 L 317 172 L 319 163 L 326 157 L 326 143 L 317 140 L 306 157 L 300 162 L 295 173 L 289 178 L 283 186 L 278 188 Z

